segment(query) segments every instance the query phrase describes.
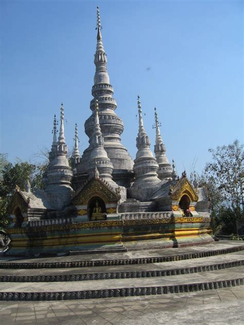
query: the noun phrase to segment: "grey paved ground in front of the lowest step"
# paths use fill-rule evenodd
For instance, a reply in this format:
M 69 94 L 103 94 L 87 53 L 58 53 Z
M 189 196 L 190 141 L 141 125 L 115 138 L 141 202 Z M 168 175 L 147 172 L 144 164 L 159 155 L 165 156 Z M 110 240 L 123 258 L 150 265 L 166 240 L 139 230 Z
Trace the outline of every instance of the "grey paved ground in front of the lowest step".
M 54 302 L 1 301 L 0 315 L 0 322 L 4 325 L 97 323 L 242 325 L 244 286 L 196 293 L 127 298 Z

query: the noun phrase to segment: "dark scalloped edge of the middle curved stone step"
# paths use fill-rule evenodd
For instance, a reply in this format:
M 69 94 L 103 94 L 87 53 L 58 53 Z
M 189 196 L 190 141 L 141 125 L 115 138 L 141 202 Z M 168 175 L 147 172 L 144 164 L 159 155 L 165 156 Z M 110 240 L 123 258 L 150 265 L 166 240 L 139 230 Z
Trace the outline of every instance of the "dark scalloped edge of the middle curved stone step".
M 190 273 L 200 273 L 215 271 L 220 269 L 232 268 L 244 265 L 243 260 L 232 262 L 222 262 L 210 265 L 182 267 L 167 270 L 141 270 L 123 272 L 98 272 L 89 274 L 67 274 L 67 275 L 40 275 L 40 276 L 0 276 L 0 282 L 66 282 L 66 281 L 90 281 L 90 280 L 109 280 L 109 279 L 131 279 L 131 278 L 152 278 L 174 275 L 184 275 Z

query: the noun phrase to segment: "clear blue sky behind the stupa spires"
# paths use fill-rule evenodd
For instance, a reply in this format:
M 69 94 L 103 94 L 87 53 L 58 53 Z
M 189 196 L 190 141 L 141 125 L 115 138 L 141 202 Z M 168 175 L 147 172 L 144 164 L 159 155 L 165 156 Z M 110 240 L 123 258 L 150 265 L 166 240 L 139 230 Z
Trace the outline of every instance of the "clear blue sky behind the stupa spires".
M 2 0 L 0 152 L 14 161 L 49 149 L 61 102 L 68 147 L 76 122 L 80 151 L 88 146 L 97 5 L 122 142 L 133 159 L 138 94 L 151 149 L 156 106 L 179 172 L 197 157 L 200 173 L 208 148 L 243 141 L 242 1 Z

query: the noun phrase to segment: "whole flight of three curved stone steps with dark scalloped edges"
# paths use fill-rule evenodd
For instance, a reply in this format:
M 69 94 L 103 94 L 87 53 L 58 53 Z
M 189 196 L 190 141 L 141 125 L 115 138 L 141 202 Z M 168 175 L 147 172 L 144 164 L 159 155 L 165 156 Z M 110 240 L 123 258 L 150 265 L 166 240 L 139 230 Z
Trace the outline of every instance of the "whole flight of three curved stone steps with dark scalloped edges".
M 90 299 L 202 291 L 243 284 L 243 265 L 244 244 L 231 241 L 144 252 L 2 258 L 0 300 Z

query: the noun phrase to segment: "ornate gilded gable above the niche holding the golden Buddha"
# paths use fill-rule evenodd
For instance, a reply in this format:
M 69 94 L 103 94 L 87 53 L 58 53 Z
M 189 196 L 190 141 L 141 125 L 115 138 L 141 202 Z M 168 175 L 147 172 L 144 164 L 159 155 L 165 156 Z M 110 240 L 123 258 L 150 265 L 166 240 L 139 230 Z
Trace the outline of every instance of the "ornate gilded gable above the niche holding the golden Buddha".
M 86 205 L 93 196 L 101 197 L 105 203 L 118 202 L 120 200 L 120 195 L 115 193 L 101 179 L 93 178 L 75 195 L 72 202 L 75 205 Z

